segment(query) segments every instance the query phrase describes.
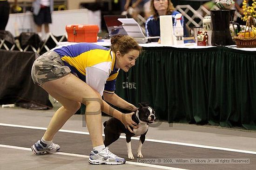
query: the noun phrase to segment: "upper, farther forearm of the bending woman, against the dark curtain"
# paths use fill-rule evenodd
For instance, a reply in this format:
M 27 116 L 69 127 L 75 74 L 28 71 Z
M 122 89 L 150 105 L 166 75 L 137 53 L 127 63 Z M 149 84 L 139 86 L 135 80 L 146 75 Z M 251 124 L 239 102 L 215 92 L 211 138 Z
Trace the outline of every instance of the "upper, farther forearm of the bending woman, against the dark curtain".
M 132 105 L 131 103 L 128 103 L 127 101 L 123 100 L 121 97 L 116 95 L 115 93 L 103 93 L 104 100 L 108 101 L 109 103 L 113 104 L 116 107 L 128 110 L 130 112 L 134 112 L 138 110 L 137 107 Z

